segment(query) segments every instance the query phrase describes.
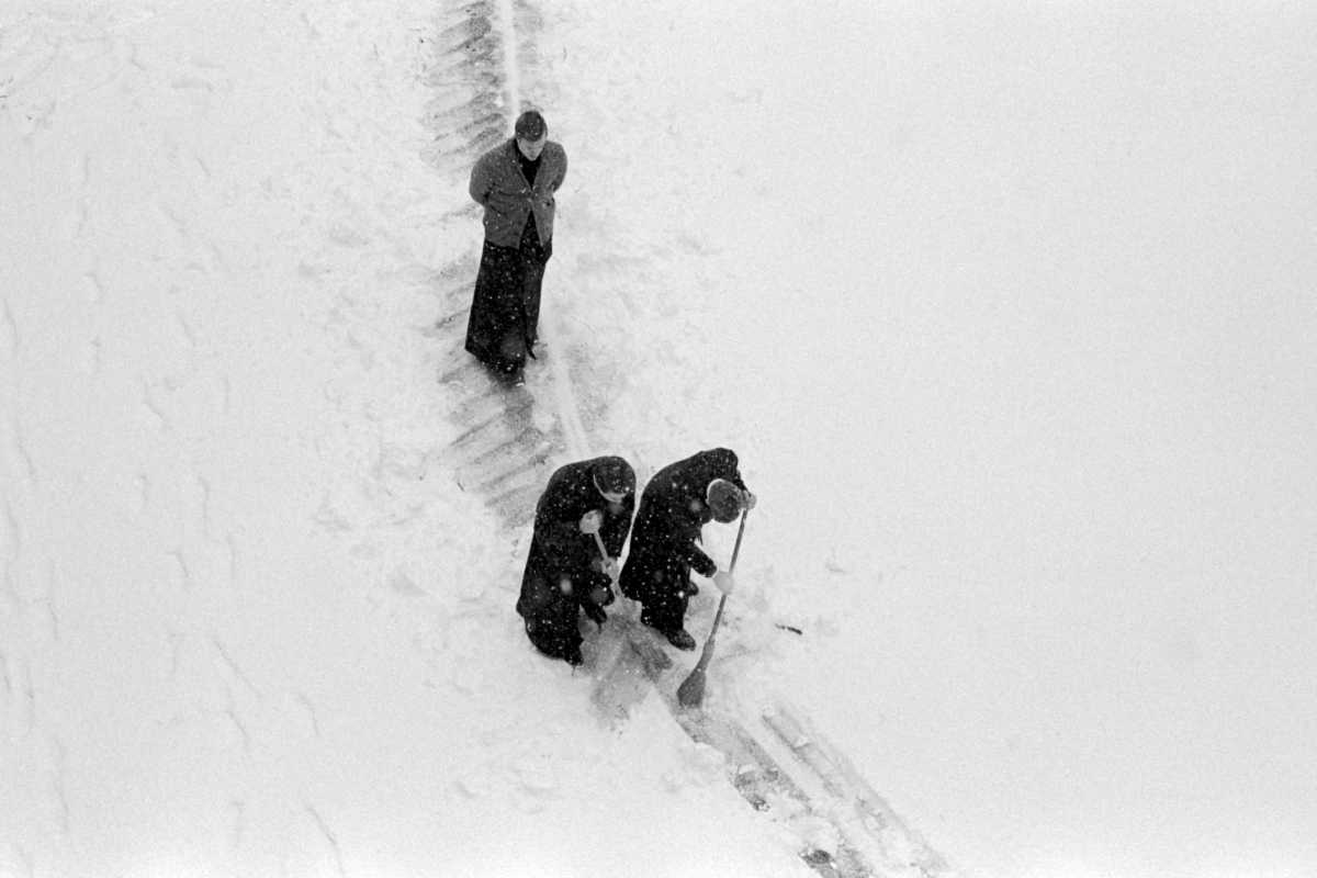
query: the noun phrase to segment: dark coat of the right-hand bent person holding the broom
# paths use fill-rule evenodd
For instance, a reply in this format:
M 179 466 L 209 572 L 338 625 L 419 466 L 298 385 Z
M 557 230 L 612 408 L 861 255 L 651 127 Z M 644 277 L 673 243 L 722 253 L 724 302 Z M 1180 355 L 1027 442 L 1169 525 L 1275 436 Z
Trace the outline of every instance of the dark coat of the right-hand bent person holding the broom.
M 703 577 L 718 573 L 718 565 L 697 545 L 701 530 L 714 517 L 705 503 L 714 479 L 745 490 L 735 452 L 699 452 L 669 463 L 649 479 L 622 569 L 623 594 L 643 603 L 666 600 L 685 591 L 691 569 Z

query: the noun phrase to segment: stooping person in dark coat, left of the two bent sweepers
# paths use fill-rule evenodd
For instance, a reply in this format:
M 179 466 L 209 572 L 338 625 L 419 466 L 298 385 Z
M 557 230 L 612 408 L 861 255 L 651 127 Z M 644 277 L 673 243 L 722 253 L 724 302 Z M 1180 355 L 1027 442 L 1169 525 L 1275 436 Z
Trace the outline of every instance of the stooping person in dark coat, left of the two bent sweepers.
M 545 656 L 581 663 L 581 612 L 603 625 L 636 507 L 636 474 L 620 457 L 568 463 L 549 477 L 516 612 Z M 601 552 L 599 542 L 605 552 Z

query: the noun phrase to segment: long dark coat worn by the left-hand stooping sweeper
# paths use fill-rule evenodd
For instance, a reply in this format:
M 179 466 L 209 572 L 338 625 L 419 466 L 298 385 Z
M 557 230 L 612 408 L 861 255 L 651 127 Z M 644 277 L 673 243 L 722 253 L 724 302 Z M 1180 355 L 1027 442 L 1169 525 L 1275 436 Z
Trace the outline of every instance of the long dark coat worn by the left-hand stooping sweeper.
M 608 555 L 616 558 L 631 530 L 635 494 L 610 504 L 594 486 L 594 466 L 603 458 L 568 463 L 549 477 L 535 508 L 535 534 L 522 575 L 516 612 L 536 623 L 536 646 L 549 654 L 577 646 L 579 611 L 591 617 L 597 607 L 612 602 L 610 579 L 602 570 L 594 537 L 581 532 L 581 519 L 591 509 L 603 512 L 599 537 Z M 564 582 L 568 587 L 564 588 Z M 603 595 L 602 600 L 591 596 Z

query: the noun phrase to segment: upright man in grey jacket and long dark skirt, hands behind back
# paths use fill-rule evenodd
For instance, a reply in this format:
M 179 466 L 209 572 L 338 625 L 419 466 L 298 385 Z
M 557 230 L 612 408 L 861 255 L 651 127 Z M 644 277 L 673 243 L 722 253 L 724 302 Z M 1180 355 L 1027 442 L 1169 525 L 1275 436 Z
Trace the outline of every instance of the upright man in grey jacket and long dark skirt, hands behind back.
M 485 208 L 485 249 L 466 350 L 512 383 L 520 383 L 527 355 L 535 357 L 540 284 L 553 255 L 553 196 L 566 174 L 566 151 L 533 109 L 471 168 L 471 199 Z

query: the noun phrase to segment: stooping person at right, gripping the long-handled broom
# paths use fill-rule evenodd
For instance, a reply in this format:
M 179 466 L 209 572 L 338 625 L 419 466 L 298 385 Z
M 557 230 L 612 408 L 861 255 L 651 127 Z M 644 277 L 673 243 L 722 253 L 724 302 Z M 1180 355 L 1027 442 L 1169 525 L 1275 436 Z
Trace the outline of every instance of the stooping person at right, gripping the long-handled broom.
M 702 577 L 718 573 L 718 565 L 697 545 L 701 530 L 712 520 L 735 521 L 753 504 L 736 454 L 726 448 L 669 463 L 645 486 L 622 569 L 622 594 L 643 604 L 640 621 L 673 646 L 695 648 L 685 628 L 686 603 L 699 591 L 690 571 Z

